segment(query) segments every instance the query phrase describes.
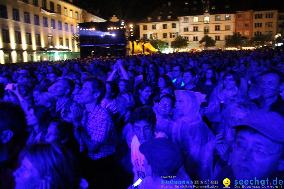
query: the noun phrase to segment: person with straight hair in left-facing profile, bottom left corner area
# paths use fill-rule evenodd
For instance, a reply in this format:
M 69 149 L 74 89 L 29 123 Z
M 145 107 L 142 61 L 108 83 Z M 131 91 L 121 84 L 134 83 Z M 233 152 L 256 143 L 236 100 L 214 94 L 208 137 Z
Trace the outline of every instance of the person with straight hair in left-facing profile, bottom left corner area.
M 20 156 L 22 165 L 14 172 L 15 189 L 78 189 L 70 158 L 60 146 L 35 144 L 24 148 Z

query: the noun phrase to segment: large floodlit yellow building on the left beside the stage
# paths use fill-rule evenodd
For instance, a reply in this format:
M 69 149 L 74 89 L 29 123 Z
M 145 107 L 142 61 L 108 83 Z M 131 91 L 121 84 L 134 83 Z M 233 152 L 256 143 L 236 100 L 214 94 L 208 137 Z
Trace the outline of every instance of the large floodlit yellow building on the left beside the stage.
M 80 57 L 72 34 L 83 21 L 83 11 L 62 0 L 1 0 L 0 63 Z

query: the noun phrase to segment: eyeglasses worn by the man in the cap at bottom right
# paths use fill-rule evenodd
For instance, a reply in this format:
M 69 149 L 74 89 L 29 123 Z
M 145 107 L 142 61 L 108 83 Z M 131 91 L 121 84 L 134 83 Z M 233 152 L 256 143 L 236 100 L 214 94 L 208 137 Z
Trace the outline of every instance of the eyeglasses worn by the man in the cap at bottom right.
M 240 152 L 243 152 L 247 149 L 247 145 L 245 143 L 241 142 L 241 141 L 233 141 L 232 146 L 235 150 L 238 150 Z M 260 148 L 252 148 L 250 150 L 252 151 L 251 156 L 256 158 L 256 159 L 265 159 L 268 156 L 273 155 L 273 154 L 277 154 L 279 152 L 279 150 L 278 150 L 278 152 L 269 153 L 269 152 L 262 150 Z

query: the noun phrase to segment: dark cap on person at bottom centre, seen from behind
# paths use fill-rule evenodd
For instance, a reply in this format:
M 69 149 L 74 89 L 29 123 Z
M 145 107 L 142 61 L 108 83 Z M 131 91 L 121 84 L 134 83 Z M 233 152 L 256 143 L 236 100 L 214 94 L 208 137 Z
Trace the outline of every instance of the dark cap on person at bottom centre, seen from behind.
M 167 138 L 156 138 L 140 145 L 139 150 L 146 157 L 152 171 L 167 174 L 178 170 L 183 164 L 179 147 Z

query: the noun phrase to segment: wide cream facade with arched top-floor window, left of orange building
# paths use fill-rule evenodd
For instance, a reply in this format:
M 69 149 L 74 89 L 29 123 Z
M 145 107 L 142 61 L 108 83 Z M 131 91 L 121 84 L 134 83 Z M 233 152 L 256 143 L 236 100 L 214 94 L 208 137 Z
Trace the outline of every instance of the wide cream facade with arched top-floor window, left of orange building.
M 204 35 L 212 37 L 216 46 L 224 48 L 225 40 L 235 31 L 235 14 L 209 14 L 180 16 L 180 35 L 189 41 L 188 48 L 199 47 Z

